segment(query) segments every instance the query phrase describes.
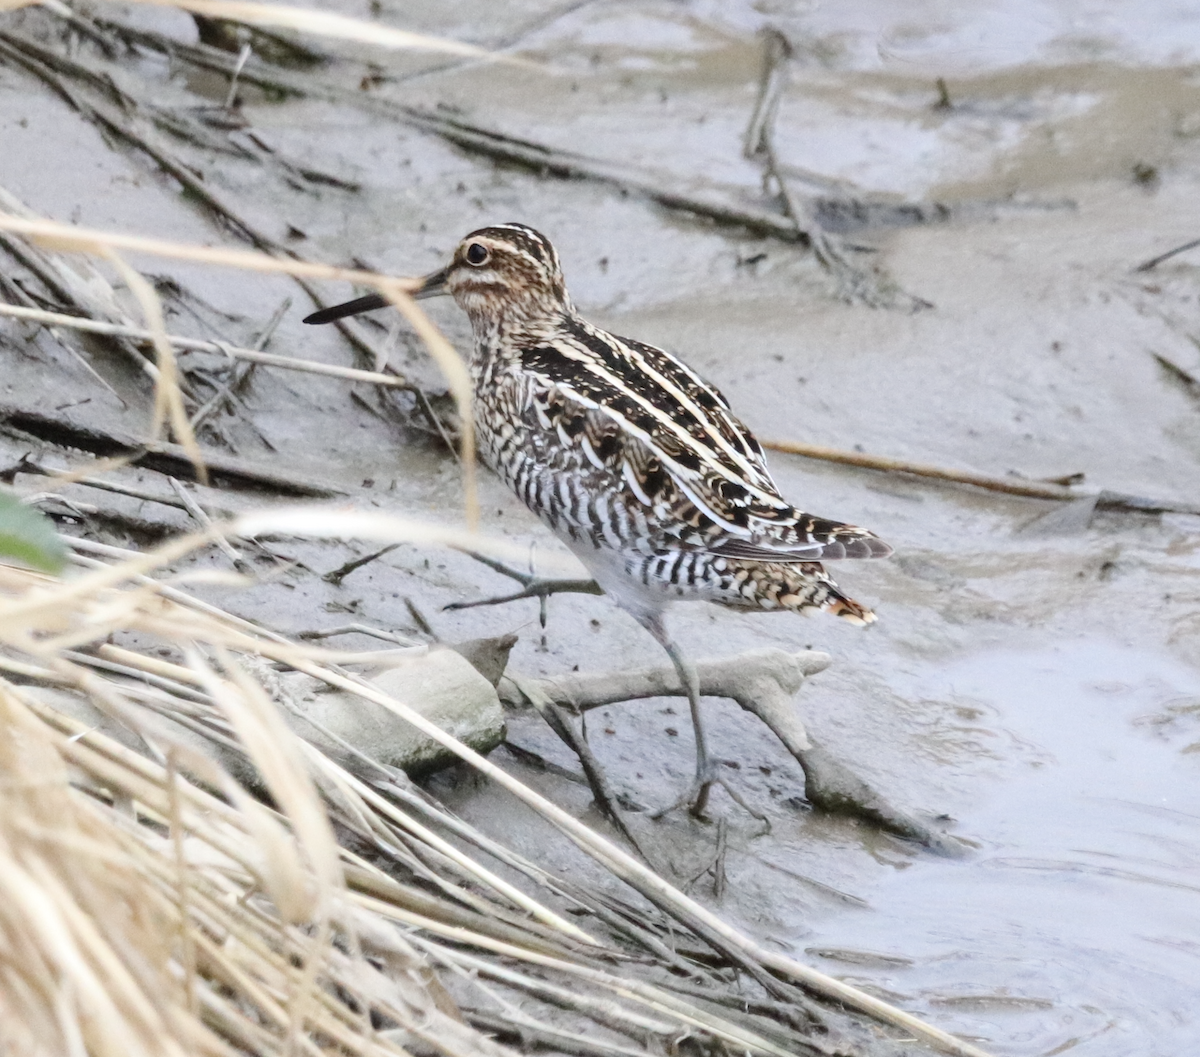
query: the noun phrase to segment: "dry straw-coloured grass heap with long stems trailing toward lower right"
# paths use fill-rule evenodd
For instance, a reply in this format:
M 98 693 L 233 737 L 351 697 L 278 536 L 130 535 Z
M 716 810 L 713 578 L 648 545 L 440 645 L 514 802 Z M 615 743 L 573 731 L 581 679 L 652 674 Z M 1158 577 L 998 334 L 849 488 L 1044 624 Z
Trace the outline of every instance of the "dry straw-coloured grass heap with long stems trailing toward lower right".
M 259 515 L 228 528 L 355 528 L 328 515 L 306 526 L 304 517 L 280 515 L 272 526 Z M 0 678 L 0 1044 L 12 1052 L 398 1053 L 397 1039 L 448 1055 L 502 1052 L 464 1022 L 472 1017 L 436 968 L 470 981 L 463 990 L 491 1007 L 475 1010 L 480 1023 L 563 1033 L 530 1020 L 517 992 L 624 1034 L 624 1052 L 655 1052 L 680 1033 L 737 1051 L 796 1052 L 803 1035 L 772 1017 L 748 1023 L 721 1011 L 718 999 L 732 993 L 722 974 L 685 963 L 709 1001 L 680 997 L 660 972 L 636 971 L 628 947 L 602 929 L 580 927 L 545 897 L 563 906 L 565 896 L 565 906 L 593 914 L 600 901 L 446 816 L 401 775 L 370 761 L 353 774 L 298 739 L 280 714 L 275 677 L 286 667 L 427 728 L 673 918 L 680 935 L 690 931 L 696 945 L 708 941 L 736 963 L 833 993 L 949 1052 L 979 1053 L 762 950 L 347 672 L 347 655 L 289 642 L 148 576 L 209 539 L 128 555 L 77 541 L 82 567 L 61 582 L 0 565 L 0 667 L 8 672 Z M 182 662 L 108 644 L 130 633 L 174 647 Z M 127 672 L 155 677 L 155 686 L 94 667 L 92 656 L 120 660 Z M 36 683 L 136 731 L 143 753 L 59 710 L 31 689 Z M 235 746 L 271 806 L 179 737 L 184 728 Z M 361 859 L 353 841 L 335 839 L 331 821 L 424 887 Z M 498 877 L 462 840 L 518 870 L 542 896 Z M 640 937 L 643 961 L 653 938 Z M 378 1031 L 372 1019 L 395 1029 Z M 649 1050 L 647 1038 L 656 1040 Z M 630 1049 L 630 1039 L 643 1043 Z M 586 1039 L 559 1041 L 571 1052 L 607 1052 L 602 1040 L 590 1050 Z

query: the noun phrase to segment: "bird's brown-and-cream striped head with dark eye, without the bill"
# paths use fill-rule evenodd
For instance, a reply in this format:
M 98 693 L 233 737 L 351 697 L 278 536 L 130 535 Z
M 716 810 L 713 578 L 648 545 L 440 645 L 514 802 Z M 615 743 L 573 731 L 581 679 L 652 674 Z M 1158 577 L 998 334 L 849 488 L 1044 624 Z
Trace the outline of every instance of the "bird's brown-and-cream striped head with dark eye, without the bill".
M 472 322 L 529 320 L 571 311 L 554 247 L 545 235 L 516 223 L 472 232 L 450 263 L 425 280 L 421 293 L 450 294 Z

